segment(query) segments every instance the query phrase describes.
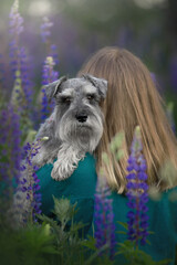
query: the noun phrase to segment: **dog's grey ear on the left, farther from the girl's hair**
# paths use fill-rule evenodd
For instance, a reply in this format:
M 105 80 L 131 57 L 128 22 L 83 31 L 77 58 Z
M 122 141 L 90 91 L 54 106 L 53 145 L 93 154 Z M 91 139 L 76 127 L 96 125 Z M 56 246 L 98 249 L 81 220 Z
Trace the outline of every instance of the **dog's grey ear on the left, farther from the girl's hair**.
M 67 80 L 66 76 L 62 76 L 60 80 L 54 81 L 53 83 L 50 83 L 49 85 L 44 86 L 45 95 L 49 102 L 51 102 L 51 99 L 55 97 L 55 95 L 60 92 L 61 84 L 66 80 Z

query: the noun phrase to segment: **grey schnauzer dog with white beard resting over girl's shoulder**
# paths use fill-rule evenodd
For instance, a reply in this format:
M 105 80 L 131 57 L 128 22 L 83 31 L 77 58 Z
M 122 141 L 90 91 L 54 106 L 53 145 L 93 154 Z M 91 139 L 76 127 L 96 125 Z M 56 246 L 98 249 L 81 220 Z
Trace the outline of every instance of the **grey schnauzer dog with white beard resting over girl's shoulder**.
M 49 100 L 55 99 L 52 115 L 41 126 L 37 139 L 41 141 L 33 163 L 53 163 L 54 180 L 69 178 L 86 152 L 93 152 L 103 134 L 104 116 L 100 103 L 106 96 L 107 82 L 91 75 L 66 78 L 45 87 Z

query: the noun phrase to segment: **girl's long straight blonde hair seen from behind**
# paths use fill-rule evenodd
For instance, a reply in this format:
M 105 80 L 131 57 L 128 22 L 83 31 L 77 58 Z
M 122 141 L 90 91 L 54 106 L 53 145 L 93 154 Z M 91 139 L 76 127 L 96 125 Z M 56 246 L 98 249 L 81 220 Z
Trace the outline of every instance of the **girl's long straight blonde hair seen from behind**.
M 169 188 L 160 181 L 159 169 L 167 159 L 177 168 L 177 141 L 147 67 L 126 50 L 104 47 L 83 65 L 79 76 L 82 74 L 92 74 L 108 82 L 107 96 L 101 106 L 105 124 L 96 150 L 97 173 L 104 167 L 110 187 L 118 193 L 125 191 L 129 147 L 134 129 L 139 125 L 148 184 L 158 186 L 159 190 Z M 110 142 L 118 131 L 125 132 L 125 155 L 119 161 L 110 150 Z M 106 165 L 102 160 L 102 152 L 107 153 Z

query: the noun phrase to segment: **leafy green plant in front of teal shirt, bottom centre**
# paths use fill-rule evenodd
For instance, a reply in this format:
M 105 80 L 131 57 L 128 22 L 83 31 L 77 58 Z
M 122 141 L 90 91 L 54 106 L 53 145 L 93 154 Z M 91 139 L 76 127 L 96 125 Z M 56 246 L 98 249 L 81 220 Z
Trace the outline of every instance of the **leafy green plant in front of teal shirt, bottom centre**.
M 55 262 L 63 265 L 88 265 L 88 264 L 113 264 L 106 256 L 100 256 L 103 251 L 95 247 L 95 239 L 88 236 L 83 237 L 82 223 L 74 222 L 76 214 L 76 203 L 71 204 L 69 199 L 54 199 L 54 216 L 55 220 L 45 215 L 39 215 L 39 219 L 46 225 L 55 239 L 55 247 L 58 250 L 58 258 Z M 103 246 L 106 250 L 108 245 Z M 70 253 L 70 255 L 69 255 Z M 56 263 L 56 264 L 58 264 Z

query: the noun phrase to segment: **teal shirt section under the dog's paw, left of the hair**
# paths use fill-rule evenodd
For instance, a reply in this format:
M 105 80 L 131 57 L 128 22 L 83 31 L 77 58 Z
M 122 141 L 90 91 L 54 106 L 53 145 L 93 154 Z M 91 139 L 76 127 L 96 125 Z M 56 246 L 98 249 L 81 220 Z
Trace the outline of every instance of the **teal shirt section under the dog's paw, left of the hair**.
M 55 181 L 51 178 L 52 169 L 53 165 L 48 163 L 37 171 L 41 187 L 39 192 L 42 194 L 42 213 L 52 218 L 53 195 L 55 198 L 65 197 L 70 199 L 71 203 L 77 203 L 75 222 L 81 221 L 87 224 L 84 227 L 84 232 L 87 233 L 93 220 L 94 193 L 97 179 L 95 159 L 87 153 L 85 159 L 79 162 L 79 167 L 73 174 L 62 181 Z

